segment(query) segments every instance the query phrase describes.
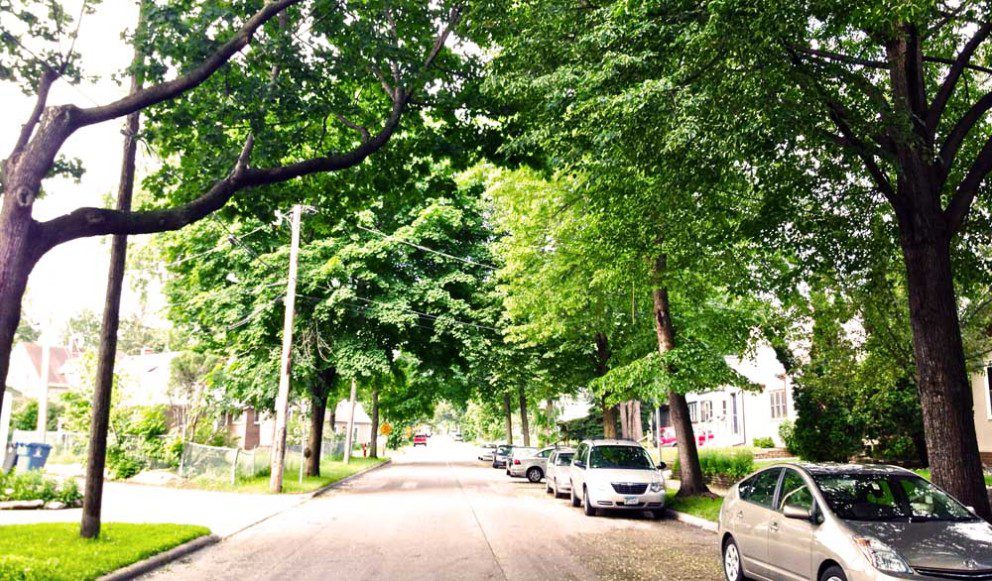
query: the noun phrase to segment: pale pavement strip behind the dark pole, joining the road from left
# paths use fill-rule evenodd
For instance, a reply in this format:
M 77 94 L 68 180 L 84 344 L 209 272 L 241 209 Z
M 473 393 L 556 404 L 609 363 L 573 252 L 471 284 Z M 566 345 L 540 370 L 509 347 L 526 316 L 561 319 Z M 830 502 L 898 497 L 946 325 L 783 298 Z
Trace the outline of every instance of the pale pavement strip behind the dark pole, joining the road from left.
M 307 494 L 240 494 L 107 482 L 103 521 L 202 525 L 223 538 L 309 498 Z M 79 522 L 81 517 L 79 508 L 5 510 L 0 511 L 0 526 Z

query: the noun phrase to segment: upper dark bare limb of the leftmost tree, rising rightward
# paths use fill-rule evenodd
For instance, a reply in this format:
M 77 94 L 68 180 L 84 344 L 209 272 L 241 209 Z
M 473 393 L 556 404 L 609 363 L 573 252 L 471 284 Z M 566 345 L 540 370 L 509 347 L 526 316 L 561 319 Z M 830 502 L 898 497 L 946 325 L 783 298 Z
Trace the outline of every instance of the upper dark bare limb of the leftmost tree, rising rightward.
M 227 63 L 235 54 L 251 42 L 252 36 L 263 24 L 271 20 L 286 8 L 298 4 L 302 0 L 271 0 L 256 12 L 233 38 L 224 43 L 213 54 L 207 57 L 198 67 L 188 73 L 158 85 L 142 89 L 133 95 L 100 107 L 79 109 L 73 116 L 74 124 L 78 127 L 101 123 L 129 113 L 140 111 L 156 103 L 177 97 L 186 91 L 199 86 Z

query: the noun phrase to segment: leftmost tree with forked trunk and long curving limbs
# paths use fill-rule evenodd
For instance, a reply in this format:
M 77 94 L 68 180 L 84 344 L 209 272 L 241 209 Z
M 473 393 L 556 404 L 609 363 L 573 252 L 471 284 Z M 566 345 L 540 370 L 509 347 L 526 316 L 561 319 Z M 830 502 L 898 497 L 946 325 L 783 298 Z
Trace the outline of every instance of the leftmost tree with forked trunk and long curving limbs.
M 317 1 L 311 6 L 314 23 L 305 32 L 300 31 L 302 40 L 299 34 L 289 34 L 273 22 L 287 10 L 300 18 L 306 4 L 304 0 L 271 0 L 260 9 L 238 5 L 232 10 L 226 3 L 203 0 L 189 6 L 160 7 L 148 15 L 148 45 L 141 50 L 150 63 L 145 70 L 148 86 L 112 103 L 86 108 L 50 107 L 47 103 L 56 81 L 78 80 L 82 74 L 78 54 L 72 49 L 65 55 L 57 52 L 63 40 L 58 33 L 73 29 L 72 17 L 60 9 L 49 10 L 47 3 L 35 0 L 25 0 L 20 10 L 4 12 L 5 29 L 9 23 L 11 29 L 18 31 L 6 33 L 0 44 L 0 59 L 7 71 L 4 76 L 37 99 L 2 164 L 5 195 L 0 209 L 0 378 L 7 375 L 27 277 L 50 249 L 88 236 L 177 230 L 217 211 L 246 188 L 354 167 L 391 139 L 419 88 L 435 81 L 444 83 L 434 64 L 452 59 L 445 42 L 460 17 L 460 6 L 412 2 L 392 7 Z M 402 27 L 397 25 L 394 11 L 404 17 Z M 240 16 L 247 18 L 241 20 Z M 443 22 L 440 32 L 436 31 L 438 21 Z M 253 41 L 256 50 L 252 57 L 258 54 L 260 58 L 232 60 Z M 307 41 L 324 42 L 334 50 L 314 49 Z M 44 48 L 27 51 L 23 49 L 25 42 L 39 42 Z M 57 62 L 53 62 L 54 57 L 58 57 Z M 258 82 L 267 81 L 271 68 L 283 64 L 287 66 L 282 67 L 280 84 L 297 92 L 281 95 L 287 98 L 279 102 L 260 101 L 259 97 L 266 94 L 258 90 Z M 165 75 L 175 69 L 185 72 L 165 80 Z M 194 91 L 201 87 L 204 90 Z M 373 87 L 381 89 L 378 96 L 372 96 Z M 354 103 L 352 97 L 360 89 L 365 90 L 365 96 L 360 103 Z M 217 98 L 229 99 L 228 103 L 238 103 L 243 109 L 198 108 L 200 104 L 212 105 Z M 346 106 L 349 113 L 356 111 L 369 118 L 379 118 L 379 113 L 386 111 L 385 120 L 377 130 L 369 130 L 355 122 L 353 115 L 346 117 L 342 113 Z M 53 171 L 65 169 L 58 160 L 59 152 L 80 129 L 135 112 L 147 112 L 153 119 L 159 114 L 180 113 L 200 119 L 196 125 L 205 128 L 207 124 L 202 119 L 211 118 L 210 113 L 218 113 L 212 116 L 215 121 L 230 121 L 219 114 L 224 111 L 237 114 L 240 123 L 228 123 L 222 128 L 227 137 L 213 143 L 214 163 L 201 169 L 210 175 L 222 175 L 220 159 L 230 156 L 225 177 L 210 183 L 204 183 L 201 177 L 173 184 L 176 195 L 171 199 L 160 196 L 157 207 L 151 210 L 79 208 L 44 222 L 32 218 L 43 180 Z M 278 125 L 271 123 L 268 116 L 298 116 L 303 111 L 308 120 L 327 120 L 337 115 L 340 130 L 326 133 L 342 153 L 323 153 L 324 132 L 295 133 L 312 141 L 276 139 Z M 186 123 L 177 129 L 188 130 L 192 125 Z M 345 132 L 354 137 L 344 139 Z M 201 134 L 196 139 L 203 137 Z M 233 143 L 239 145 L 232 148 Z M 234 155 L 237 151 L 240 153 Z

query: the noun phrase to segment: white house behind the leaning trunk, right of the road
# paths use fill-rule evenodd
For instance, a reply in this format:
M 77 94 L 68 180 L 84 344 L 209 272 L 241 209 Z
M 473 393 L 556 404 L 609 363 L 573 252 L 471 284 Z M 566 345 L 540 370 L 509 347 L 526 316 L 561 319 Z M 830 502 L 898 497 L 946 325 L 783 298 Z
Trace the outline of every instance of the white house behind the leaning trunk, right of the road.
M 771 347 L 759 347 L 754 357 L 727 357 L 732 369 L 760 390 L 722 387 L 686 396 L 689 417 L 704 446 L 750 446 L 756 438 L 771 438 L 784 446 L 779 426 L 795 421 L 792 382 Z M 662 422 L 664 425 L 666 422 Z

